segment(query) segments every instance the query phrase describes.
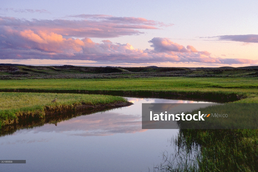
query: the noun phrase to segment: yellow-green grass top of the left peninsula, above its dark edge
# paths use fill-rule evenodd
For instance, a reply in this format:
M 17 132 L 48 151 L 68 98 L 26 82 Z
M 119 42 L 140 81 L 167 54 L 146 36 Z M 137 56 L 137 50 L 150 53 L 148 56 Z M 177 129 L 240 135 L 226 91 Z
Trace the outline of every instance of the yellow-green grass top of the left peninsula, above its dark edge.
M 57 98 L 56 102 L 51 101 Z M 88 95 L 71 93 L 0 93 L 0 127 L 17 118 L 19 113 L 42 112 L 46 106 L 66 106 L 81 104 L 107 104 L 126 102 L 119 96 Z

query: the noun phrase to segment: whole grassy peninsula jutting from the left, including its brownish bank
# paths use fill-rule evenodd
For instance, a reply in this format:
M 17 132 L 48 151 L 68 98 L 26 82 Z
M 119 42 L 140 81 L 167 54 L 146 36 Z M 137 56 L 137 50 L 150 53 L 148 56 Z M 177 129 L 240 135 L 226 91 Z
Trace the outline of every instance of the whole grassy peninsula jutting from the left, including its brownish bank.
M 55 102 L 52 102 L 56 98 Z M 110 95 L 88 95 L 70 93 L 0 93 L 0 127 L 45 123 L 56 120 L 58 115 L 92 109 L 99 105 L 128 103 L 126 99 Z M 102 109 L 103 110 L 103 109 Z M 61 119 L 61 118 L 60 118 Z M 59 120 L 59 118 L 58 118 Z

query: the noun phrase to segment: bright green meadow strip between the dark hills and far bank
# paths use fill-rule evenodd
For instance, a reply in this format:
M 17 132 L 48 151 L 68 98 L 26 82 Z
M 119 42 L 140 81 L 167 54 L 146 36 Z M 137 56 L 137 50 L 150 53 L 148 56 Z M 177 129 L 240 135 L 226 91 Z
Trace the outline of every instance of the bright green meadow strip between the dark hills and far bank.
M 202 95 L 216 93 L 217 95 L 234 94 L 248 99 L 240 103 L 257 103 L 258 82 L 256 78 L 186 78 L 186 77 L 156 77 L 132 79 L 24 79 L 0 80 L 0 90 L 30 89 L 43 92 L 63 90 L 81 91 L 151 91 L 173 92 L 180 94 Z M 39 92 L 40 92 L 39 91 Z

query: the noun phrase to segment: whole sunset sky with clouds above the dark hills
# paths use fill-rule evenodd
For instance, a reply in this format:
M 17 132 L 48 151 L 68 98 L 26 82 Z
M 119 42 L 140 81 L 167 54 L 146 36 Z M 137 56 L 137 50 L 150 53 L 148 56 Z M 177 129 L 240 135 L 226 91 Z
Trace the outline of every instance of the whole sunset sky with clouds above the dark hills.
M 258 1 L 3 1 L 0 63 L 258 65 Z

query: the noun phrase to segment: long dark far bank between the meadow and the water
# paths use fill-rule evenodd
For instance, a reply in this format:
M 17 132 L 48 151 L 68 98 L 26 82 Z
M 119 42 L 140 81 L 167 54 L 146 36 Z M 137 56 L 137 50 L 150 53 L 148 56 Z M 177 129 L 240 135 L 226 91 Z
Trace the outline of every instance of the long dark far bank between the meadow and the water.
M 216 103 L 227 103 L 245 99 L 245 94 L 227 93 L 221 91 L 151 91 L 151 90 L 78 90 L 78 89 L 0 89 L 5 93 L 75 93 L 75 94 L 98 94 L 113 95 L 122 97 L 139 97 L 139 98 L 163 98 L 163 99 L 182 99 L 193 101 L 210 101 Z

